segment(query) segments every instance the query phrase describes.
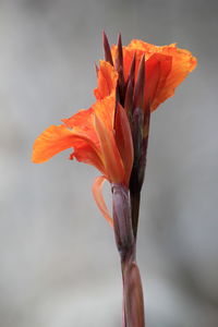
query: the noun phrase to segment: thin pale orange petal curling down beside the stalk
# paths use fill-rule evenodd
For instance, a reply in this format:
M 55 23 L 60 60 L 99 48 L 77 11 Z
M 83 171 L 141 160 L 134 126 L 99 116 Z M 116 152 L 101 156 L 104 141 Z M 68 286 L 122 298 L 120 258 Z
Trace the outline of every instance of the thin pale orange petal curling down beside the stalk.
M 109 214 L 109 210 L 106 206 L 106 203 L 102 197 L 102 184 L 105 182 L 106 178 L 104 175 L 98 177 L 94 184 L 93 184 L 93 195 L 96 201 L 96 204 L 98 208 L 100 209 L 101 214 L 106 218 L 106 220 L 109 222 L 111 227 L 113 227 L 113 220 Z

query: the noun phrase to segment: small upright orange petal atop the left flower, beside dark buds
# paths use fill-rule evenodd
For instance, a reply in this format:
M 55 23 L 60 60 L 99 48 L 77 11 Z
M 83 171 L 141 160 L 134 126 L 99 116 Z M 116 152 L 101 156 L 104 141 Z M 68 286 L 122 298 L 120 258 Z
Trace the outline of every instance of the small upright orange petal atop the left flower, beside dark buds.
M 102 99 L 116 90 L 118 73 L 107 61 L 100 60 L 98 70 L 98 87 L 94 89 L 96 98 Z

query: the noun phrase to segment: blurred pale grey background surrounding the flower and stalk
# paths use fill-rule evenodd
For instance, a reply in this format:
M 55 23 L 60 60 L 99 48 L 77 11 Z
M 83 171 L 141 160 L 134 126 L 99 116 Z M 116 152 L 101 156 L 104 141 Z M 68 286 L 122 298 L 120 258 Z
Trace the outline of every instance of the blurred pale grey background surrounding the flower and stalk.
M 44 129 L 94 101 L 102 29 L 198 58 L 152 117 L 138 264 L 147 327 L 217 327 L 216 0 L 0 1 L 0 326 L 121 326 L 119 256 L 90 193 L 98 172 L 69 150 L 31 162 Z

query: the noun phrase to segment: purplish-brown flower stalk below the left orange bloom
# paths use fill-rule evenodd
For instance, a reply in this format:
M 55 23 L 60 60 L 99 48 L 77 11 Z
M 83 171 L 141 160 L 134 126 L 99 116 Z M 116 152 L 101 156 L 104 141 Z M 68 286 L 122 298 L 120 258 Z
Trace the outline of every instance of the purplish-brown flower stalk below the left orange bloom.
M 114 237 L 121 259 L 123 281 L 123 327 L 144 327 L 144 300 L 136 242 L 132 229 L 129 190 L 112 185 Z

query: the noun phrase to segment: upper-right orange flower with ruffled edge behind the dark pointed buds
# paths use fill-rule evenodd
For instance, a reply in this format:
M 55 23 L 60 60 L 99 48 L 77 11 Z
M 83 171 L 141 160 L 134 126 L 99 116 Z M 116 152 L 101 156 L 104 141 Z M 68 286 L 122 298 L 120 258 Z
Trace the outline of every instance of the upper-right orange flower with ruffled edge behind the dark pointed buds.
M 122 52 L 125 83 L 134 56 L 135 78 L 141 59 L 145 56 L 144 107 L 149 107 L 152 111 L 174 94 L 174 89 L 197 63 L 196 58 L 190 51 L 178 48 L 175 44 L 158 47 L 134 39 L 129 46 L 122 47 Z M 116 63 L 118 46 L 112 46 L 111 55 Z

